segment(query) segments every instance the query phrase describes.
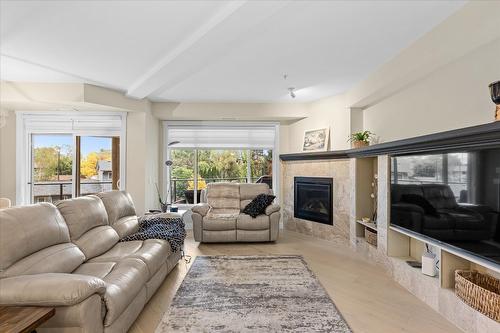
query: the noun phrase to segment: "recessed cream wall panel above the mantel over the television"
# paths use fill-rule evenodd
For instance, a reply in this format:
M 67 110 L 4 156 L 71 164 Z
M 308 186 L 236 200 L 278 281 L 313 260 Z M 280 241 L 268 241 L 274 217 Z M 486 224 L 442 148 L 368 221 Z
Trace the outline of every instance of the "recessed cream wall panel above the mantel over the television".
M 364 127 L 384 142 L 491 122 L 499 79 L 500 38 L 365 109 Z

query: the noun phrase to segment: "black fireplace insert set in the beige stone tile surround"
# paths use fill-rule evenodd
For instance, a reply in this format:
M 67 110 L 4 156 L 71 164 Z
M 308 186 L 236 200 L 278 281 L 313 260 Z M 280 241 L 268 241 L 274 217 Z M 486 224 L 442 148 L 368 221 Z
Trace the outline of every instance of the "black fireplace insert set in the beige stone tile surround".
M 332 178 L 294 178 L 294 216 L 333 225 Z

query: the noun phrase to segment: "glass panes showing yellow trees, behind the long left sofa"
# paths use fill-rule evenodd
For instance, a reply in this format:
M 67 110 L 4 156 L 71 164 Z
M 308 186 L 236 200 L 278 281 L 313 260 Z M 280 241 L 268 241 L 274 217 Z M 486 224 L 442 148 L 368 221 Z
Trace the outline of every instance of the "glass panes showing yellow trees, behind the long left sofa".
M 32 134 L 31 142 L 32 203 L 119 188 L 119 137 Z

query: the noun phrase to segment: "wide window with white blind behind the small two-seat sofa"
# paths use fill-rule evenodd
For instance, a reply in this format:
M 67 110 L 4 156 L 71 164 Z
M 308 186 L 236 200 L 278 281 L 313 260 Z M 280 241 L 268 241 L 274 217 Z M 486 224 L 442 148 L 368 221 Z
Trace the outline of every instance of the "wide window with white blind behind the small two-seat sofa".
M 167 201 L 195 204 L 211 182 L 267 183 L 278 193 L 277 123 L 164 122 Z

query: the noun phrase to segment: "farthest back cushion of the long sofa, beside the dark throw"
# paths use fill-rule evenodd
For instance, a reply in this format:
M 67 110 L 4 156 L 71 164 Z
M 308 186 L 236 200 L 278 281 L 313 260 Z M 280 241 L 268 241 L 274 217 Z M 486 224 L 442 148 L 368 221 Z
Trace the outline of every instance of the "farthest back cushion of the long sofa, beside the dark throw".
M 125 191 L 108 191 L 98 193 L 106 207 L 109 224 L 116 230 L 120 238 L 133 234 L 139 230 L 139 222 L 135 206 Z

